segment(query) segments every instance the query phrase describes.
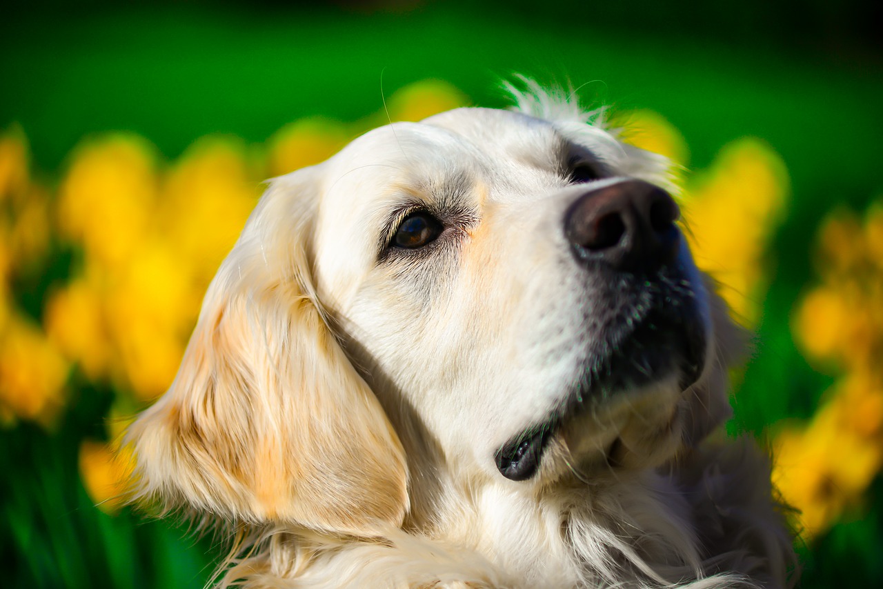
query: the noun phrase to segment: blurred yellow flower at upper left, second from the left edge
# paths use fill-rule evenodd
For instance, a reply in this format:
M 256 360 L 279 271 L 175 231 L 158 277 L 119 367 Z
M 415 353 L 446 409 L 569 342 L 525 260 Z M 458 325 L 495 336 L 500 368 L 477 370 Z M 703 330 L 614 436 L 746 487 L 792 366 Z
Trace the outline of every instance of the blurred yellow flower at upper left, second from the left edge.
M 59 193 L 58 224 L 102 264 L 125 265 L 156 200 L 155 164 L 144 140 L 117 135 L 78 148 Z

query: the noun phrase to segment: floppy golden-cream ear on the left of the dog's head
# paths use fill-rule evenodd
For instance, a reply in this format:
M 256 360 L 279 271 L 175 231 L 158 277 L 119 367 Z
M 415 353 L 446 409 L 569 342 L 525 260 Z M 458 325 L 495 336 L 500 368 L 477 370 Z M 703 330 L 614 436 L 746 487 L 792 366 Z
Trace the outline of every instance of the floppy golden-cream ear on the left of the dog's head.
M 277 178 L 209 286 L 175 381 L 126 434 L 133 500 L 354 534 L 401 525 L 404 450 L 313 293 L 317 180 Z

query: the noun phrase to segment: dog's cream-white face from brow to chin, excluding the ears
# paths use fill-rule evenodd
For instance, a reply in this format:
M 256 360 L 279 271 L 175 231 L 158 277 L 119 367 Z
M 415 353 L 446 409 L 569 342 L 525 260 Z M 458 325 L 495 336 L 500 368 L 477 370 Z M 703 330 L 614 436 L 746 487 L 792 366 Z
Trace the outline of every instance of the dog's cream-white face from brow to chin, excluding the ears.
M 651 183 L 660 162 L 567 131 L 460 109 L 369 133 L 324 170 L 319 298 L 394 388 L 378 393 L 471 472 L 650 464 L 680 443 L 705 366 L 707 295 Z

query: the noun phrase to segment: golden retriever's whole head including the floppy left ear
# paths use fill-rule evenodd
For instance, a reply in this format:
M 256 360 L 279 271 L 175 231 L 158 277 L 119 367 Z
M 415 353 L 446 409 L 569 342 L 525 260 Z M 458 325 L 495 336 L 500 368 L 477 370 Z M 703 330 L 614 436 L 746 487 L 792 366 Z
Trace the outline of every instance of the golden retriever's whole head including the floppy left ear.
M 136 494 L 364 533 L 425 438 L 472 484 L 660 464 L 727 416 L 733 339 L 666 178 L 578 115 L 457 109 L 276 179 L 132 427 Z

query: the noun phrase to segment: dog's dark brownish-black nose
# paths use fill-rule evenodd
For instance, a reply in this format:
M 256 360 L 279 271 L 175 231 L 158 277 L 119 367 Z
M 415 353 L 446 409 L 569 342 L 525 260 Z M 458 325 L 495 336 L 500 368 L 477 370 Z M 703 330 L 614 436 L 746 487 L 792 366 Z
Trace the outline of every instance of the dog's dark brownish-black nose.
M 579 197 L 564 215 L 564 232 L 582 260 L 653 272 L 677 256 L 680 214 L 659 186 L 628 180 Z

